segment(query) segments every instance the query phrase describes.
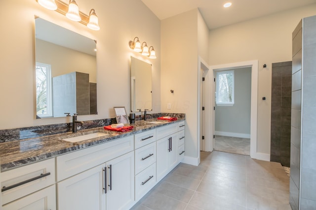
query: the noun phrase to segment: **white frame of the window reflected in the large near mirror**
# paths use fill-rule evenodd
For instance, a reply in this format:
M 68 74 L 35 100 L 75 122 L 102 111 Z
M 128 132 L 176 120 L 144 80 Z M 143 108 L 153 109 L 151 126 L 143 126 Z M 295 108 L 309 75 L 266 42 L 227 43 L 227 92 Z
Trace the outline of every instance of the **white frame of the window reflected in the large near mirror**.
M 51 65 L 47 63 L 36 62 L 35 68 L 35 79 L 37 67 L 44 67 L 46 69 L 46 114 L 38 115 L 38 111 L 36 110 L 36 115 L 40 118 L 50 118 L 53 117 L 53 96 L 52 96 L 52 79 L 51 79 Z M 36 92 L 36 104 L 37 104 L 37 92 Z

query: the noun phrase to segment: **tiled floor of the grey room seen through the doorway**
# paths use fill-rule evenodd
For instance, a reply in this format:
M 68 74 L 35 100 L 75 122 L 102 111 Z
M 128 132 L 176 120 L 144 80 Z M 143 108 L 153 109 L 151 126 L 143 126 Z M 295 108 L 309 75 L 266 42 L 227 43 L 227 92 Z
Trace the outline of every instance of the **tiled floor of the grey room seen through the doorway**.
M 214 150 L 250 155 L 250 139 L 216 135 Z

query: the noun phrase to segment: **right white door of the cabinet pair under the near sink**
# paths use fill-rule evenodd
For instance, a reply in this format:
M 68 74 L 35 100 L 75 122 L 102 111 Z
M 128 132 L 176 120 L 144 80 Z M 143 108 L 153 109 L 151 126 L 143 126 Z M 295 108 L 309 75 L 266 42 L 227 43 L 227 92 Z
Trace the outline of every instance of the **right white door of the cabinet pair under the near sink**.
M 129 209 L 134 204 L 134 151 L 110 160 L 106 165 L 107 210 Z

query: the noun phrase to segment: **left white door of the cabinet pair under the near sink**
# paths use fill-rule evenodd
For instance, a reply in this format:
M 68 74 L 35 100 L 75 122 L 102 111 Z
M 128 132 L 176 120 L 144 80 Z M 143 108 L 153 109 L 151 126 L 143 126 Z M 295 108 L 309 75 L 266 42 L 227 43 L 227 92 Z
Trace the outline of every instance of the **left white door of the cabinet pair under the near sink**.
M 58 210 L 105 210 L 105 164 L 58 183 Z

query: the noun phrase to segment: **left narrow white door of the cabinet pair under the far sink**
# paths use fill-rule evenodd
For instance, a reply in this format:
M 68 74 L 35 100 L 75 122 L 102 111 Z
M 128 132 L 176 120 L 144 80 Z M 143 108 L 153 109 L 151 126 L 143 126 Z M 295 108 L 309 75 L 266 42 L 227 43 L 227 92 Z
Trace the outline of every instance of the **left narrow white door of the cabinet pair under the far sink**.
M 157 182 L 168 173 L 169 137 L 157 141 Z

